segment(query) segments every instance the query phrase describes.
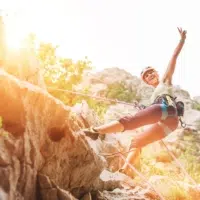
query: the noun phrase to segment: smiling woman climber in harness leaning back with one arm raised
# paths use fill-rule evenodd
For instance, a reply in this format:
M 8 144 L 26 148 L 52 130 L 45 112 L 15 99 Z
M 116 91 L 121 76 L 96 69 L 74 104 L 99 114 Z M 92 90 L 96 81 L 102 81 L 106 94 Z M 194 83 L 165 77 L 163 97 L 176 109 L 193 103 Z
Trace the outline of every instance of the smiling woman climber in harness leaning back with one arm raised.
M 176 67 L 176 60 L 183 48 L 186 39 L 186 30 L 178 28 L 180 41 L 175 48 L 167 69 L 159 81 L 159 74 L 153 67 L 146 67 L 141 72 L 142 80 L 155 88 L 151 96 L 151 105 L 140 110 L 133 116 L 125 116 L 117 121 L 99 127 L 91 127 L 83 132 L 92 137 L 101 134 L 133 130 L 145 125 L 150 125 L 145 131 L 137 134 L 131 142 L 131 149 L 141 148 L 147 144 L 161 140 L 178 127 L 178 109 L 172 94 L 172 77 Z M 132 160 L 134 153 L 130 152 L 127 161 Z M 126 170 L 127 165 L 123 166 Z

